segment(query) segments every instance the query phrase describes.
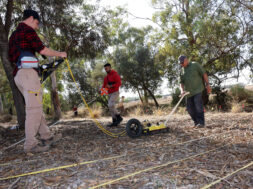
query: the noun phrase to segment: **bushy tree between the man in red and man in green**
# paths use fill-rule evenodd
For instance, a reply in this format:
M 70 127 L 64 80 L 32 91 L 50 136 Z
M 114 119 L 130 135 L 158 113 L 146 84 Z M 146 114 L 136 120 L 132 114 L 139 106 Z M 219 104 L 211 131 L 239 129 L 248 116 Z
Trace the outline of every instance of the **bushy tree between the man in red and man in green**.
M 161 64 L 156 63 L 156 51 L 148 43 L 151 31 L 151 27 L 129 28 L 122 33 L 124 43 L 117 47 L 114 61 L 125 88 L 137 91 L 140 98 L 142 91 L 145 102 L 150 96 L 158 107 L 155 92 L 161 84 L 163 72 Z

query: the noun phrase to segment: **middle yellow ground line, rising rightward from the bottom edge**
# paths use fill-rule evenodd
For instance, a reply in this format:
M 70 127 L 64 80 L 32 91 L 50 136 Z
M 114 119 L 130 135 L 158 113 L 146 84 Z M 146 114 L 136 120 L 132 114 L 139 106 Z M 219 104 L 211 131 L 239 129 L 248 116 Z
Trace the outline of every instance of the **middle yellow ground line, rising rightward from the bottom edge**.
M 117 181 L 126 179 L 126 178 L 128 178 L 128 177 L 135 176 L 135 175 L 138 175 L 138 174 L 147 172 L 147 171 L 151 171 L 151 170 L 153 170 L 153 169 L 166 167 L 166 166 L 168 166 L 168 165 L 171 165 L 171 164 L 174 164 L 174 163 L 179 163 L 179 162 L 182 162 L 182 161 L 185 161 L 185 160 L 188 160 L 188 159 L 193 159 L 193 158 L 195 158 L 195 157 L 197 157 L 197 156 L 201 156 L 201 155 L 207 154 L 207 153 L 209 153 L 209 152 L 216 151 L 217 149 L 222 148 L 222 147 L 225 147 L 225 146 L 228 146 L 228 145 L 230 145 L 230 144 L 231 144 L 231 143 L 226 144 L 226 145 L 223 145 L 223 146 L 220 146 L 220 147 L 215 148 L 215 149 L 212 149 L 212 150 L 208 150 L 208 151 L 206 151 L 206 152 L 202 152 L 202 153 L 199 153 L 199 154 L 196 154 L 196 155 L 193 155 L 193 156 L 189 156 L 189 157 L 187 157 L 187 158 L 183 158 L 183 159 L 179 159 L 179 160 L 175 160 L 175 161 L 169 161 L 169 162 L 164 163 L 164 164 L 161 164 L 161 165 L 157 165 L 157 166 L 153 166 L 153 167 L 150 167 L 150 168 L 147 168 L 147 169 L 143 169 L 143 170 L 140 170 L 140 171 L 136 171 L 136 172 L 134 172 L 134 173 L 125 175 L 125 176 L 123 176 L 123 177 L 119 177 L 119 178 L 117 178 L 117 179 L 114 179 L 114 180 L 105 182 L 105 183 L 103 183 L 103 184 L 99 184 L 99 185 L 97 185 L 97 186 L 90 187 L 90 189 L 95 189 L 95 188 L 103 187 L 103 186 L 112 184 L 112 183 L 114 183 L 114 182 L 117 182 Z

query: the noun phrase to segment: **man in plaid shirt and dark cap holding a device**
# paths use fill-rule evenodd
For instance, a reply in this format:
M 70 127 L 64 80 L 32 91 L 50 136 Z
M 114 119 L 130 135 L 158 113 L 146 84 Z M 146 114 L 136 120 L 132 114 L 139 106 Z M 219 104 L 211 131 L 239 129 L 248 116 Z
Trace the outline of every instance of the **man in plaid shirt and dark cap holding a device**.
M 39 53 L 45 56 L 67 57 L 66 52 L 59 52 L 44 46 L 35 30 L 39 28 L 40 18 L 36 11 L 25 10 L 23 21 L 9 39 L 9 60 L 14 65 L 14 80 L 23 94 L 26 104 L 25 120 L 25 152 L 44 152 L 51 144 L 61 138 L 61 135 L 52 136 L 43 114 L 42 89 L 40 78 L 34 68 L 17 66 L 21 52 L 30 52 L 35 56 Z M 35 136 L 39 133 L 43 145 L 40 145 Z

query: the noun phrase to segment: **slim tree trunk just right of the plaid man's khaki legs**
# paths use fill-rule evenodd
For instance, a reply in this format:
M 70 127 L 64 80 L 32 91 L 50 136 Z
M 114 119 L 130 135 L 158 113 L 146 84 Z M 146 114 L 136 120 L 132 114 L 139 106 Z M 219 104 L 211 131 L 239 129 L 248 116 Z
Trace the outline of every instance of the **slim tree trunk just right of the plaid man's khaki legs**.
M 61 106 L 60 106 L 60 100 L 59 100 L 59 96 L 57 92 L 57 82 L 56 82 L 55 72 L 53 72 L 50 75 L 50 78 L 52 81 L 51 100 L 54 106 L 54 119 L 59 120 L 61 119 Z

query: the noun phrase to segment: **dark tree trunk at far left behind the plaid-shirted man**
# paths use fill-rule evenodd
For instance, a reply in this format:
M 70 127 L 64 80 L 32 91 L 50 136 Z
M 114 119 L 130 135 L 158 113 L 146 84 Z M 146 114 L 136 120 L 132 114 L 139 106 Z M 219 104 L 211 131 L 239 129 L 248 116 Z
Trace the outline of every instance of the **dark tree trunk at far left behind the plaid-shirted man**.
M 18 124 L 21 129 L 24 129 L 25 128 L 25 102 L 24 102 L 23 95 L 18 90 L 14 82 L 14 78 L 12 75 L 13 68 L 11 66 L 11 63 L 8 60 L 8 49 L 9 49 L 8 32 L 6 32 L 2 19 L 0 18 L 0 56 L 1 56 L 2 64 L 4 67 L 4 71 L 10 82 L 14 105 L 17 112 Z

